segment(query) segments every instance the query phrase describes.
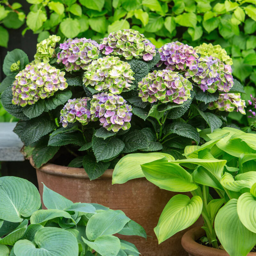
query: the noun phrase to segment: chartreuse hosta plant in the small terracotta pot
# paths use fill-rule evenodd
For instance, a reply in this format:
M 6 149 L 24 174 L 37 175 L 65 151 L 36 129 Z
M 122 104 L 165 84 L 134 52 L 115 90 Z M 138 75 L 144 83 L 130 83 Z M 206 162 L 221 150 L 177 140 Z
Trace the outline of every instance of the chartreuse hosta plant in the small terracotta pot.
M 113 183 L 145 176 L 161 189 L 191 192 L 191 198 L 180 194 L 166 204 L 154 229 L 159 244 L 202 215 L 204 243 L 230 256 L 246 256 L 256 244 L 256 134 L 225 127 L 200 136 L 206 142 L 187 146 L 186 159 L 159 153 L 124 156 Z

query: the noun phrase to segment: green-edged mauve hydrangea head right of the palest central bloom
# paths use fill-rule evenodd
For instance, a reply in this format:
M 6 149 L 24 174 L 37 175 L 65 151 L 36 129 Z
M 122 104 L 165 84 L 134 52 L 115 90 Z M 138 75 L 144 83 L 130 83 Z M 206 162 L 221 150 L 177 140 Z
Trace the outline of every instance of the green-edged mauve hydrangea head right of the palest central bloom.
M 149 73 L 138 83 L 139 96 L 142 101 L 150 103 L 160 100 L 162 103 L 174 102 L 182 104 L 191 99 L 192 83 L 178 72 L 159 70 Z

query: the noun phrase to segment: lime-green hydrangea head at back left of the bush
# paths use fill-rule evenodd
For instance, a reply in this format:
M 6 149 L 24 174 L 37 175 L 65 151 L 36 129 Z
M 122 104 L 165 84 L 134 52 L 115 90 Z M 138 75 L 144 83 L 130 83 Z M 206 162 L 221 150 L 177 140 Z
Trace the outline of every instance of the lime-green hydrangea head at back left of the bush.
M 52 35 L 36 44 L 35 62 L 48 62 L 54 56 L 56 43 L 60 41 L 60 36 Z

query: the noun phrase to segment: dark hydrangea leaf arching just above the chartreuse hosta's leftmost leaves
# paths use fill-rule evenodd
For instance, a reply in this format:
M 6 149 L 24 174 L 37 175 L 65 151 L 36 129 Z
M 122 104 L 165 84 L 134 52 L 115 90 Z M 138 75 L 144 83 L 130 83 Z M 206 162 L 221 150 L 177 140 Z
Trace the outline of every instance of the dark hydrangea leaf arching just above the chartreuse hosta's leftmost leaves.
M 169 124 L 165 126 L 164 133 L 175 133 L 177 135 L 180 135 L 182 137 L 186 137 L 192 140 L 196 141 L 196 144 L 198 145 L 200 138 L 199 133 L 196 131 L 196 128 L 194 128 L 192 125 L 182 122 L 175 122 L 172 124 Z

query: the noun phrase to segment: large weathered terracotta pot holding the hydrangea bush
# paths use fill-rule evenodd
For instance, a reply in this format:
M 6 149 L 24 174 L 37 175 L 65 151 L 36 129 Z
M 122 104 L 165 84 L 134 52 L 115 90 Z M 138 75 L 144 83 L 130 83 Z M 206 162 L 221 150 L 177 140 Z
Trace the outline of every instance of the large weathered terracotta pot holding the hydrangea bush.
M 32 161 L 31 164 L 33 165 Z M 177 193 L 160 189 L 145 178 L 112 185 L 112 173 L 113 170 L 107 170 L 100 178 L 90 181 L 83 168 L 45 164 L 36 169 L 41 198 L 43 182 L 48 188 L 73 202 L 98 203 L 114 210 L 122 210 L 145 228 L 149 236 L 147 241 L 139 236 L 120 236 L 135 244 L 142 256 L 185 256 L 186 252 L 180 241 L 186 230 L 160 245 L 154 233 L 164 206 Z

